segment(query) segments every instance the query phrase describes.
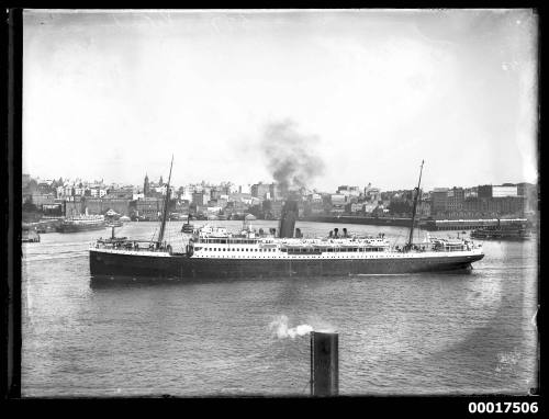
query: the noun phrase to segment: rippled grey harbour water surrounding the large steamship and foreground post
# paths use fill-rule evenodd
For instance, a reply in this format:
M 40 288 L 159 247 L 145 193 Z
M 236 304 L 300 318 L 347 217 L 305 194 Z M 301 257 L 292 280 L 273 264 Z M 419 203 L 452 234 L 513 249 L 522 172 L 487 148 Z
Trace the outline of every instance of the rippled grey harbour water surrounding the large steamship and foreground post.
M 176 249 L 181 225 L 167 226 Z M 128 223 L 116 234 L 150 239 L 157 226 Z M 296 227 L 305 235 L 384 233 L 396 244 L 407 234 Z M 290 327 L 339 333 L 341 395 L 525 395 L 537 387 L 536 238 L 485 241 L 486 256 L 470 273 L 121 284 L 90 278 L 88 246 L 109 235 L 51 233 L 22 245 L 23 396 L 305 396 L 309 336 L 273 335 L 269 325 L 281 316 Z M 448 235 L 457 233 L 433 234 Z

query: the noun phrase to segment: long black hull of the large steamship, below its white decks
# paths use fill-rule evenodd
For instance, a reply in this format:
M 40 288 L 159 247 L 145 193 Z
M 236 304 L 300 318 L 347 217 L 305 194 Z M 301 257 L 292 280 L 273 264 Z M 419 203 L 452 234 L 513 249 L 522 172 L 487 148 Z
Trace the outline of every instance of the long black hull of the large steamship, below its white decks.
M 471 269 L 483 254 L 399 259 L 229 259 L 141 256 L 90 250 L 92 275 L 171 279 L 403 274 Z

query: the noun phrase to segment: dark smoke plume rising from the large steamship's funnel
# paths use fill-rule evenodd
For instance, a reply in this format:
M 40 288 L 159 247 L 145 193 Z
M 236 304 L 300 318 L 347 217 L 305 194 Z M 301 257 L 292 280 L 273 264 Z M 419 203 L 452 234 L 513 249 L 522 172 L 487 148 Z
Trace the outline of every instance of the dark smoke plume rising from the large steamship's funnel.
M 283 197 L 291 190 L 306 188 L 324 171 L 324 161 L 315 149 L 317 143 L 318 137 L 300 134 L 290 120 L 267 125 L 261 147 Z

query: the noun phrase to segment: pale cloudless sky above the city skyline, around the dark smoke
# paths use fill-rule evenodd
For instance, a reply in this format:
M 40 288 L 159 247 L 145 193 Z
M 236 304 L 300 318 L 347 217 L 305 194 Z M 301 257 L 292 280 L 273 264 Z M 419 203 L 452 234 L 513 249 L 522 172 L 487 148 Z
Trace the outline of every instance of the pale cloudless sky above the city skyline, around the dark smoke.
M 536 182 L 537 39 L 527 9 L 26 10 L 23 172 L 270 182 L 274 126 L 321 191 Z

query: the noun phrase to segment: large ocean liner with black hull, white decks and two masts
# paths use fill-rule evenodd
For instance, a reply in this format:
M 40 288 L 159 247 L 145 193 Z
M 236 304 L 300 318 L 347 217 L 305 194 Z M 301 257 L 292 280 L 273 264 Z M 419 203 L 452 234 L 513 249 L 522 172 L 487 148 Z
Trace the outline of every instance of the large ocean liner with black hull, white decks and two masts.
M 168 188 L 171 180 L 171 167 Z M 429 238 L 413 241 L 419 195 L 415 189 L 410 239 L 392 246 L 384 235 L 352 236 L 338 229 L 328 237 L 305 238 L 295 228 L 298 202 L 287 200 L 279 228 L 256 231 L 245 222 L 240 231 L 231 233 L 208 224 L 197 227 L 180 248 L 164 240 L 169 192 L 166 195 L 157 240 L 139 241 L 113 236 L 90 247 L 92 275 L 172 278 L 180 280 L 214 278 L 321 276 L 348 274 L 393 274 L 471 269 L 484 257 L 472 241 Z

